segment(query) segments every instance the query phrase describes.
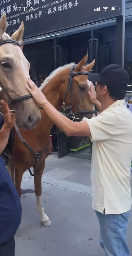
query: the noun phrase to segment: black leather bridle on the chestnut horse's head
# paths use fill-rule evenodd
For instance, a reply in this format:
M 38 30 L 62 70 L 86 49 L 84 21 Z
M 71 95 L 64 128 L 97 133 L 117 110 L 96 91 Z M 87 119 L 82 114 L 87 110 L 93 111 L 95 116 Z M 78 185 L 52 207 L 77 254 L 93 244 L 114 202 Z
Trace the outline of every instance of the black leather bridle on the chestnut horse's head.
M 68 91 L 70 90 L 70 98 L 69 98 L 69 106 L 67 107 L 69 109 L 69 114 L 68 114 L 68 117 L 71 119 L 71 120 L 74 120 L 74 119 L 78 119 L 78 118 L 75 118 L 75 115 L 78 115 L 78 114 L 96 114 L 97 115 L 97 111 L 95 110 L 84 110 L 84 111 L 80 111 L 79 110 L 79 107 L 78 107 L 78 104 L 76 102 L 76 98 L 75 98 L 75 94 L 74 94 L 74 90 L 73 90 L 73 77 L 75 77 L 76 75 L 88 75 L 89 72 L 75 72 L 74 73 L 74 68 L 76 67 L 76 64 L 74 64 L 72 67 L 71 67 L 71 71 L 70 71 L 70 75 L 69 75 L 69 83 L 68 83 L 68 87 L 67 87 L 67 90 L 65 92 L 65 98 L 64 98 L 64 103 L 66 101 L 66 98 L 67 98 L 67 93 Z M 75 101 L 75 104 L 76 104 L 76 107 L 77 107 L 77 112 L 75 112 L 73 114 L 72 112 L 72 105 L 71 105 L 71 98 L 72 98 L 72 95 L 73 95 L 73 98 L 74 98 L 74 101 Z

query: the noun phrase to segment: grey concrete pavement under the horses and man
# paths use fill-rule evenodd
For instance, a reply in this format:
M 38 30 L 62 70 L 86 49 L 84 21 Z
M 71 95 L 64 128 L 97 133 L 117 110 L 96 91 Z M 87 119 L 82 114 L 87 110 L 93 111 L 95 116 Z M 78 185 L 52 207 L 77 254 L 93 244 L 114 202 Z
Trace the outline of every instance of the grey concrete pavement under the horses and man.
M 99 224 L 91 207 L 90 161 L 50 155 L 42 176 L 42 203 L 52 226 L 40 225 L 33 178 L 22 181 L 22 221 L 16 234 L 16 256 L 104 256 Z M 132 255 L 132 213 L 127 233 Z

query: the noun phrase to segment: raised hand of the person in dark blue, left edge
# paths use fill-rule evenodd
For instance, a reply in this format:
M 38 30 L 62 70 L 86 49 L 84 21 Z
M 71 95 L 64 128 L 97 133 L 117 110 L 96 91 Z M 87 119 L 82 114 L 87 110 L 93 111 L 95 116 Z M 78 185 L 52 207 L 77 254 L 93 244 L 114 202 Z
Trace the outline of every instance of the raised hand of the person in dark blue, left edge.
M 0 101 L 0 105 L 2 107 L 2 113 L 4 116 L 4 126 L 6 126 L 6 128 L 12 129 L 15 125 L 15 114 L 10 112 L 8 104 L 3 100 Z

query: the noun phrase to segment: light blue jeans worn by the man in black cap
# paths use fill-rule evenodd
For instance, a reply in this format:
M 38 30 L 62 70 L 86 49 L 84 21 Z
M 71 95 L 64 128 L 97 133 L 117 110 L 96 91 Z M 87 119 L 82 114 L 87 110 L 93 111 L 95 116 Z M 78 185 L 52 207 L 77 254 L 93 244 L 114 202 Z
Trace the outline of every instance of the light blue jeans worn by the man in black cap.
M 130 256 L 126 242 L 129 211 L 122 214 L 102 214 L 96 211 L 100 224 L 100 245 L 106 256 Z

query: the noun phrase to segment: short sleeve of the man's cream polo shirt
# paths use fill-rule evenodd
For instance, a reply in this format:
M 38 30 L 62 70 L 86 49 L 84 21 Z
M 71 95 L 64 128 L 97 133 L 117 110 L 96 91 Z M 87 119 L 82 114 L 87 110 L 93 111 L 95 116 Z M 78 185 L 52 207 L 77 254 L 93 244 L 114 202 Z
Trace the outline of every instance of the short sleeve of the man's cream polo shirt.
M 92 142 L 108 140 L 116 134 L 117 115 L 111 109 L 91 119 L 84 117 L 83 121 L 87 121 L 89 125 Z

